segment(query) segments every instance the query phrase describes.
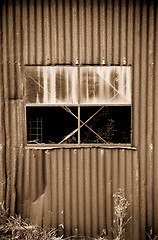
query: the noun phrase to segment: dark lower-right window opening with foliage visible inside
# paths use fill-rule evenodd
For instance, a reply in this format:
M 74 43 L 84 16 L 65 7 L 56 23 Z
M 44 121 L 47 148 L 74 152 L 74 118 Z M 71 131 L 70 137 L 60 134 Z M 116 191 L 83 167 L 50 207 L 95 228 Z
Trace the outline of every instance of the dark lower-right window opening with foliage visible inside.
M 131 142 L 131 107 L 81 107 L 81 120 L 85 122 L 97 111 L 86 123 L 96 134 L 86 126 L 81 127 L 81 143 Z

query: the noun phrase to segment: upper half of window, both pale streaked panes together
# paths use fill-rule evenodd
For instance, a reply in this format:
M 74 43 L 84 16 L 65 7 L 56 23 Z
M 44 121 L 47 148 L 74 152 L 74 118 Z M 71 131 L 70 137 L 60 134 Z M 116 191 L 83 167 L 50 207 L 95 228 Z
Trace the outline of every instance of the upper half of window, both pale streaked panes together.
M 27 66 L 26 103 L 131 104 L 131 72 L 125 66 Z

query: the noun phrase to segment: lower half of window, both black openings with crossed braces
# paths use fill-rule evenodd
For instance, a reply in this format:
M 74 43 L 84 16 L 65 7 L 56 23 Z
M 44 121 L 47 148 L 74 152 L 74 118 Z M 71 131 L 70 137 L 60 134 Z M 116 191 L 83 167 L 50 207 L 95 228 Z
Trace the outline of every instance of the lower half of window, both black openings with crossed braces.
M 131 143 L 130 106 L 26 107 L 28 144 Z

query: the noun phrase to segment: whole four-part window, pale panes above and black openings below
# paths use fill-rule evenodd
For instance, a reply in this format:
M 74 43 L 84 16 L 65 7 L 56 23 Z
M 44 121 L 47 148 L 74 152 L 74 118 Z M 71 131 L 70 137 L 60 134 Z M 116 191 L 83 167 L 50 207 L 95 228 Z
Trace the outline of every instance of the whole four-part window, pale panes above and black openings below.
M 26 67 L 28 144 L 131 143 L 130 67 Z

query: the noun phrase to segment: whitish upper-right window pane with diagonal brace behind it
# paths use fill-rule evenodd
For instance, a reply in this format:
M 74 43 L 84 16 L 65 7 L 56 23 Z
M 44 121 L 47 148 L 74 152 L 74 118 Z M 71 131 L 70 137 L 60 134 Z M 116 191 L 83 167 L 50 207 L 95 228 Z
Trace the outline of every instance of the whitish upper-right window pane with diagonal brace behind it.
M 81 103 L 130 104 L 130 67 L 81 67 Z

